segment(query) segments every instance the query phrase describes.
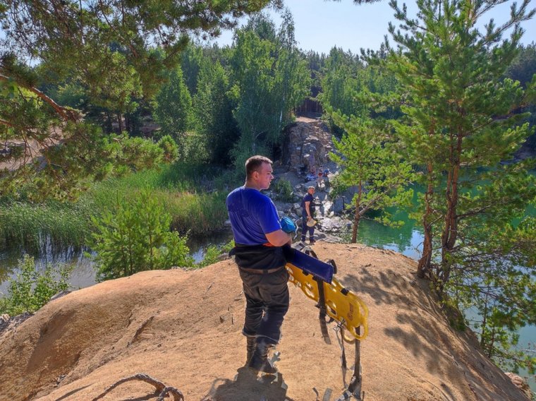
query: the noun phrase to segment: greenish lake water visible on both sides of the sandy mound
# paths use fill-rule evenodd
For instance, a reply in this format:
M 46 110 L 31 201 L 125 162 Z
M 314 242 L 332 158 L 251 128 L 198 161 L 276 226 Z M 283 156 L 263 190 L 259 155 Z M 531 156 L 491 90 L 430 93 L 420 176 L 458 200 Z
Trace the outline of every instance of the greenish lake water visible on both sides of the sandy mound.
M 399 220 L 405 220 L 403 227 L 393 229 L 377 224 L 370 220 L 363 220 L 360 225 L 359 241 L 368 246 L 391 249 L 403 253 L 410 258 L 418 259 L 422 249 L 422 232 L 415 227 L 414 222 L 408 220 L 407 215 L 401 213 Z M 195 261 L 201 261 L 205 249 L 209 244 L 223 245 L 232 239 L 231 231 L 211 234 L 206 239 L 190 239 L 188 246 Z M 6 293 L 6 280 L 16 274 L 15 267 L 18 259 L 23 256 L 22 250 L 0 252 L 0 292 Z M 83 250 L 68 247 L 63 250 L 52 250 L 51 246 L 43 246 L 42 252 L 33 255 L 39 268 L 47 263 L 74 263 L 75 269 L 71 276 L 71 285 L 74 288 L 89 287 L 95 284 L 95 270 L 92 261 L 83 256 Z M 519 331 L 520 346 L 527 347 L 528 343 L 536 342 L 536 326 L 527 326 Z M 536 393 L 535 376 L 529 376 L 527 371 L 520 371 L 520 376 L 528 378 L 530 388 Z

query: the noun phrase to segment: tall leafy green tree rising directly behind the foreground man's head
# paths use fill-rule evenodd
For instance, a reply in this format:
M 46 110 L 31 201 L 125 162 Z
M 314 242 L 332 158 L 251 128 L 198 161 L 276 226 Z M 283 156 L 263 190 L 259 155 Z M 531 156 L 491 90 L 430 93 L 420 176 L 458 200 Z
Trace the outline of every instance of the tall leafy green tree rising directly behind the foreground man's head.
M 286 18 L 278 38 L 273 23 L 260 15 L 236 32 L 231 59 L 236 82 L 231 92 L 237 102 L 233 115 L 240 128 L 233 151 L 236 165 L 246 155 L 271 153 L 292 109 L 303 102 L 310 88 L 305 60 L 298 59 L 293 37 L 288 36 L 291 25 Z

